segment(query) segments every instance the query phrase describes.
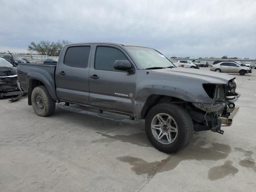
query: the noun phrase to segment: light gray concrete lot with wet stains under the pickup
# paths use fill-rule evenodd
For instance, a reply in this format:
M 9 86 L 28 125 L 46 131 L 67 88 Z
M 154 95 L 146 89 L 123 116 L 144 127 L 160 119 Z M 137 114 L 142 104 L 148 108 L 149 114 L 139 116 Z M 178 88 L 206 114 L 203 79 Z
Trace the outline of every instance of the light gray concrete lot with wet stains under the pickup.
M 209 68 L 201 68 L 209 70 Z M 224 135 L 194 134 L 177 154 L 138 126 L 56 109 L 36 116 L 24 97 L 0 100 L 1 192 L 256 191 L 256 70 L 235 74 L 240 112 Z

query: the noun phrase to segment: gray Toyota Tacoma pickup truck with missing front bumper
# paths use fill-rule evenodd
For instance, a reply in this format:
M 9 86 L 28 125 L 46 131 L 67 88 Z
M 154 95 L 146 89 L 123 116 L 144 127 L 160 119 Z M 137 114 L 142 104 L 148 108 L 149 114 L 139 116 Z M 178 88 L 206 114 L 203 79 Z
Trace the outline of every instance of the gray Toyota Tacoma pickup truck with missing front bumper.
M 143 46 L 67 44 L 57 64 L 20 63 L 17 74 L 38 116 L 65 102 L 57 107 L 127 124 L 145 119 L 148 139 L 167 153 L 185 148 L 195 131 L 223 134 L 239 109 L 234 76 L 177 68 Z

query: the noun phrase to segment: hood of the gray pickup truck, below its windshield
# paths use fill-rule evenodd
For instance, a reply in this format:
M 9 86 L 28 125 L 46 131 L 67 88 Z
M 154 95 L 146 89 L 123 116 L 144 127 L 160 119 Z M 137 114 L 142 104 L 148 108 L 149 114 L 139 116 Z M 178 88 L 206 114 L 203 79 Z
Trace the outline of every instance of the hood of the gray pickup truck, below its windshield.
M 160 72 L 170 75 L 186 76 L 190 78 L 197 78 L 209 83 L 214 84 L 227 84 L 229 80 L 235 77 L 228 74 L 212 72 L 200 69 L 190 69 L 190 68 L 164 68 L 164 69 L 154 69 L 154 72 Z

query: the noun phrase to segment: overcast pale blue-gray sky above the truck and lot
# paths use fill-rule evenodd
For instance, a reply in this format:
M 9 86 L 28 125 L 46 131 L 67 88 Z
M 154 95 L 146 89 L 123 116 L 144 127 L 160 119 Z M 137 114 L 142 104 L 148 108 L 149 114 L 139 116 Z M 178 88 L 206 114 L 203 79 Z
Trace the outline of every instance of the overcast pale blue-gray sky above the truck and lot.
M 0 18 L 0 52 L 69 40 L 256 58 L 256 0 L 0 0 Z

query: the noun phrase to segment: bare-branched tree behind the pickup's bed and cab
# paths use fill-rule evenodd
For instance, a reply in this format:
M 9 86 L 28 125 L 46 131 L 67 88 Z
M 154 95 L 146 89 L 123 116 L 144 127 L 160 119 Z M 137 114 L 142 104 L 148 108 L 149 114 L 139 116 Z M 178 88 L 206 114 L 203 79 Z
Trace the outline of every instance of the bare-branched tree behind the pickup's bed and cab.
M 28 45 L 28 50 L 32 52 L 35 51 L 40 55 L 59 56 L 63 46 L 68 43 L 70 43 L 68 40 L 58 40 L 58 42 L 42 40 L 38 44 L 35 42 L 30 42 L 30 45 Z

